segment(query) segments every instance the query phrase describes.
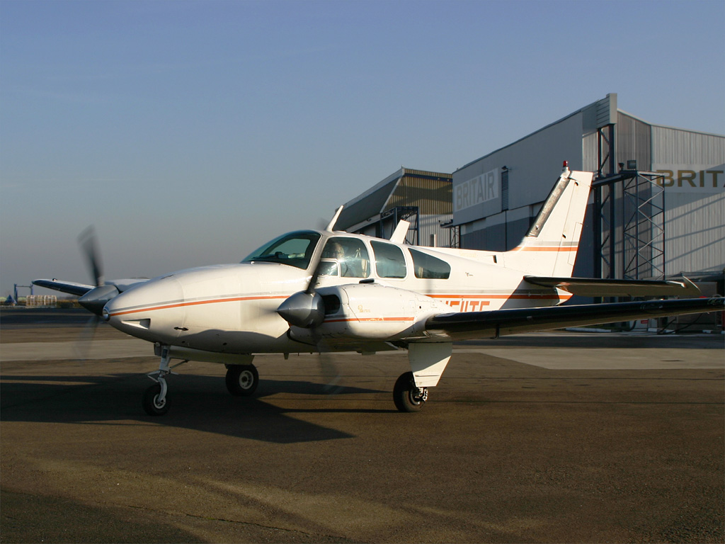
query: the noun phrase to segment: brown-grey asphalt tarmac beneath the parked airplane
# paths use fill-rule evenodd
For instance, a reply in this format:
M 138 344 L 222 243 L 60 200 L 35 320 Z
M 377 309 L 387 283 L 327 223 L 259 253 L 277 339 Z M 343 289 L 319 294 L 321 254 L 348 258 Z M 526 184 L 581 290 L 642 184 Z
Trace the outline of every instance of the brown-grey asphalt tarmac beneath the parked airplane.
M 415 414 L 405 353 L 260 356 L 253 398 L 188 363 L 152 418 L 86 316 L 0 315 L 2 543 L 725 541 L 721 335 L 466 342 Z

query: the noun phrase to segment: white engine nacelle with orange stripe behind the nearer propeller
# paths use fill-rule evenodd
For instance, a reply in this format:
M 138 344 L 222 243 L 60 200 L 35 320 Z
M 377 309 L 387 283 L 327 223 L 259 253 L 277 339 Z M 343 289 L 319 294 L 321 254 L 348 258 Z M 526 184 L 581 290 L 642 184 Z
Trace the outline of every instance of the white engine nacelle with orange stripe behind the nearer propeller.
M 313 329 L 291 327 L 305 342 L 320 338 L 384 342 L 423 335 L 426 319 L 450 311 L 426 295 L 381 284 L 349 284 L 318 289 L 325 305 L 323 323 Z

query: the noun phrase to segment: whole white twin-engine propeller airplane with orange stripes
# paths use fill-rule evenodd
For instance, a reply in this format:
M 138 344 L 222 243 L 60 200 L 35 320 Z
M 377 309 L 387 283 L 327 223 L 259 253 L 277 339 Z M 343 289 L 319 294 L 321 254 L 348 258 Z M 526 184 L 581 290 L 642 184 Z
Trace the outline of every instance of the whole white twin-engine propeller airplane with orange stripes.
M 389 240 L 334 231 L 274 239 L 239 264 L 191 268 L 96 286 L 36 280 L 82 294 L 79 302 L 120 331 L 154 343 L 146 413 L 169 408 L 165 376 L 188 360 L 223 363 L 232 395 L 252 395 L 254 354 L 406 349 L 410 372 L 393 388 L 400 411 L 418 411 L 438 384 L 452 342 L 724 308 L 722 297 L 564 305 L 587 296 L 697 297 L 688 279 L 571 278 L 592 173 L 566 168 L 529 234 L 508 252 L 413 247 L 401 221 Z M 92 246 L 92 244 L 91 244 Z M 170 366 L 172 360 L 181 360 Z

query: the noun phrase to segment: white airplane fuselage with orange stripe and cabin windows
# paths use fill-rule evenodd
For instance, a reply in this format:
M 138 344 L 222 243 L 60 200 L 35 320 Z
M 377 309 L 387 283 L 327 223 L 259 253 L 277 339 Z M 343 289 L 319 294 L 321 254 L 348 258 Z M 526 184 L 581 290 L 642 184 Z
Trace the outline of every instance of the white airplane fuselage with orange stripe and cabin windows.
M 304 353 L 318 351 L 311 344 L 320 338 L 332 350 L 349 350 L 356 339 L 365 337 L 394 341 L 403 333 L 409 335 L 411 327 L 431 313 L 547 306 L 571 296 L 527 284 L 522 272 L 498 264 L 503 254 L 494 258 L 489 252 L 302 232 L 315 234 L 307 268 L 299 268 L 294 258 L 299 254 L 291 254 L 293 258 L 278 256 L 278 262 L 248 258 L 239 264 L 178 271 L 118 295 L 106 306 L 105 316 L 121 331 L 164 345 L 214 353 Z M 294 235 L 287 236 L 294 239 Z M 290 328 L 277 308 L 307 287 L 312 263 L 324 260 L 325 248 L 340 243 L 357 247 L 355 255 L 347 260 L 327 259 L 331 269 L 318 278 L 320 293 L 347 286 L 336 290 L 339 308 L 326 309 L 325 322 L 310 334 Z M 286 260 L 297 266 L 283 264 Z M 353 271 L 345 273 L 346 266 Z M 368 285 L 364 296 L 357 297 L 355 286 L 360 282 Z M 379 289 L 370 289 L 370 284 Z

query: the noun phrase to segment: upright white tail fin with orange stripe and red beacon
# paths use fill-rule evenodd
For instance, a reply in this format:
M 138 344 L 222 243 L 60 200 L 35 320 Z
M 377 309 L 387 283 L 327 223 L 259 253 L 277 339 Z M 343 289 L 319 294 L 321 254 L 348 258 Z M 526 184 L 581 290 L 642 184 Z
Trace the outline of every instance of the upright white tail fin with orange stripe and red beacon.
M 507 266 L 537 276 L 571 276 L 593 176 L 569 170 L 564 163 L 529 233 L 506 253 Z

